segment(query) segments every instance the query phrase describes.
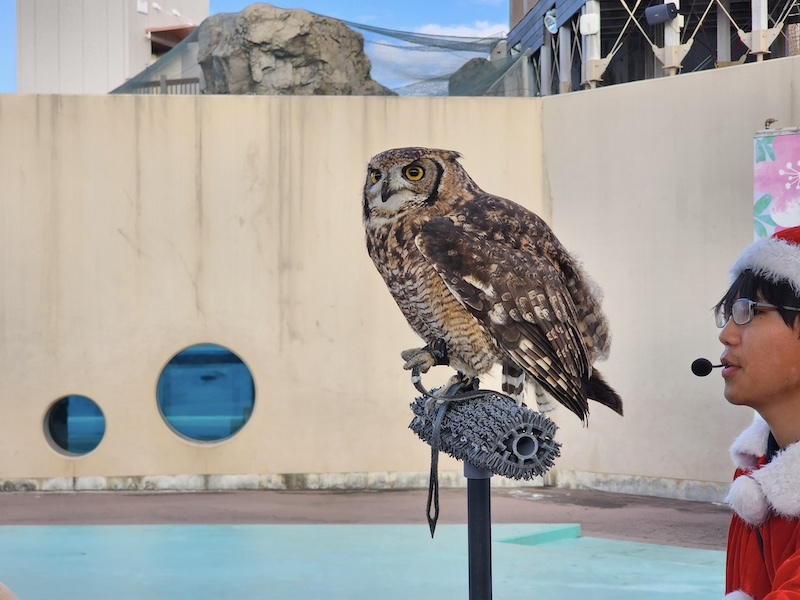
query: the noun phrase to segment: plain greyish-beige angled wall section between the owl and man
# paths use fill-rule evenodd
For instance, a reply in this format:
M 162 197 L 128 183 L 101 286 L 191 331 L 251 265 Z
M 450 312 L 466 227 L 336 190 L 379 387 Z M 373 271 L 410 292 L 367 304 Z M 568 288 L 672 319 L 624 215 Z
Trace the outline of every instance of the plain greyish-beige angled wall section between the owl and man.
M 626 411 L 597 407 L 587 429 L 561 419 L 563 483 L 660 492 L 731 476 L 752 412 L 689 365 L 722 352 L 710 308 L 753 239 L 753 134 L 767 117 L 798 124 L 797 82 L 800 61 L 779 59 L 544 100 L 545 200 L 605 290 L 600 368 Z

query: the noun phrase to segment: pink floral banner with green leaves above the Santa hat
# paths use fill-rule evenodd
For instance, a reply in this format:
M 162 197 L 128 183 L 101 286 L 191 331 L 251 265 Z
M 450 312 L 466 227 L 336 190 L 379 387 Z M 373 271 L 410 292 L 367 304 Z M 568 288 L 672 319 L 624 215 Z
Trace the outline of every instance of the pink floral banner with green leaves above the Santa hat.
M 753 170 L 755 238 L 800 225 L 800 129 L 756 134 Z

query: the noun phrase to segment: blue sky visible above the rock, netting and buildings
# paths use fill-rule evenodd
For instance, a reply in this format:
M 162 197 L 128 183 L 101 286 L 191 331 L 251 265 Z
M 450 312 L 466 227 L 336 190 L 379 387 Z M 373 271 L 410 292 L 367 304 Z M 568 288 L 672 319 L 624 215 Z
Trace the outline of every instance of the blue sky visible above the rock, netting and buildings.
M 210 0 L 211 14 L 239 12 L 247 0 Z M 329 17 L 386 29 L 489 36 L 508 31 L 509 0 L 275 0 Z M 16 91 L 16 1 L 0 0 L 0 94 Z

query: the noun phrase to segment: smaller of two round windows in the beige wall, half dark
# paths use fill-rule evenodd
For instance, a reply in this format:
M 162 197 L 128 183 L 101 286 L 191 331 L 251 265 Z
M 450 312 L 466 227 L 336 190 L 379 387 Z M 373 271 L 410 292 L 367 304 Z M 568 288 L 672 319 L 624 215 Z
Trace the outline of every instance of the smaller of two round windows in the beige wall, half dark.
M 86 396 L 64 396 L 47 411 L 44 428 L 45 437 L 57 451 L 82 455 L 100 444 L 106 432 L 106 419 L 97 404 Z

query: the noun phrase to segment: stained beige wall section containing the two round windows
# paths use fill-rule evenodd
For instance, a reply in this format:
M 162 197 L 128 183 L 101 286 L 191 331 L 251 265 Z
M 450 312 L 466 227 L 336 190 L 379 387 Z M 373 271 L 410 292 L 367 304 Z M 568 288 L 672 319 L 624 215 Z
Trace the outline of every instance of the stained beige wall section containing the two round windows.
M 366 254 L 365 167 L 390 147 L 453 148 L 487 190 L 539 209 L 539 112 L 0 96 L 0 479 L 425 472 L 399 358 L 418 340 Z M 219 444 L 177 437 L 156 405 L 165 363 L 201 342 L 236 352 L 256 384 L 251 421 Z M 82 458 L 43 435 L 66 394 L 106 417 Z

